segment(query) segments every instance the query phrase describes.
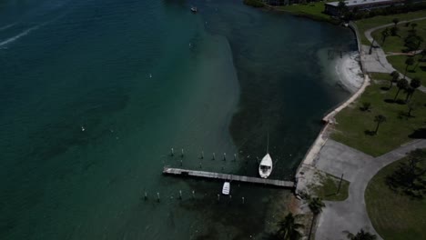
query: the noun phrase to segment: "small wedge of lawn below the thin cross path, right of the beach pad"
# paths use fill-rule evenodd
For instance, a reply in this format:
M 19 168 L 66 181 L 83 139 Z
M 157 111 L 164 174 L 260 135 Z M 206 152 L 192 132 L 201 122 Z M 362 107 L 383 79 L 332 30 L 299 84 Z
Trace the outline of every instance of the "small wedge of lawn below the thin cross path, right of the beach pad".
M 426 39 L 426 38 L 425 38 Z M 417 65 L 417 60 L 421 55 L 415 56 L 415 63 L 408 67 L 407 76 L 413 78 L 415 76 L 421 78 L 421 85 L 426 85 L 426 62 L 421 62 L 415 69 L 414 66 Z M 405 60 L 407 59 L 406 55 L 390 55 L 386 57 L 389 63 L 398 70 L 401 74 L 405 73 Z

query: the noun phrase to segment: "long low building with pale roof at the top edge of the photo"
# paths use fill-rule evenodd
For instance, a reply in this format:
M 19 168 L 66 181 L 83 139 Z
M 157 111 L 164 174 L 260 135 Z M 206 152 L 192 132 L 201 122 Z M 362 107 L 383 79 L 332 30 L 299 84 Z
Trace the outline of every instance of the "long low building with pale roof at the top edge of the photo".
M 345 1 L 350 12 L 357 8 L 358 11 L 369 11 L 376 8 L 387 7 L 391 5 L 403 5 L 401 0 L 349 0 Z M 339 2 L 330 2 L 325 4 L 324 12 L 328 15 L 339 15 Z

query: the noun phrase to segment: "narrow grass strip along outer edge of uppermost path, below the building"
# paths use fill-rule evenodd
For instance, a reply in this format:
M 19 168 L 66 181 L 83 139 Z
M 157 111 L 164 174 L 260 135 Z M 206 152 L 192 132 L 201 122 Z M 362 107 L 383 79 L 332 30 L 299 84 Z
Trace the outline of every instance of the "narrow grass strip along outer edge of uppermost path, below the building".
M 424 17 L 424 16 L 426 16 L 426 10 L 400 14 L 400 15 L 378 15 L 371 18 L 358 20 L 356 21 L 356 24 L 360 31 L 361 43 L 363 45 L 370 45 L 369 40 L 367 40 L 367 37 L 365 37 L 364 35 L 364 32 L 369 30 L 372 27 L 391 24 L 393 18 L 398 18 L 400 19 L 400 21 L 404 21 L 404 20 L 411 20 L 413 18 Z

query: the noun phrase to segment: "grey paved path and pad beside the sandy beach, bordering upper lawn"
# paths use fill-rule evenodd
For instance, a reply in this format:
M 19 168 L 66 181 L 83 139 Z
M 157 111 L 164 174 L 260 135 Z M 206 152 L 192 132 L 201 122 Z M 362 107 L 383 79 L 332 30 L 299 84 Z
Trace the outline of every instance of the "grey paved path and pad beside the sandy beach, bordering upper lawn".
M 408 22 L 414 22 L 414 21 L 420 21 L 424 20 L 426 17 L 419 17 L 414 18 L 408 21 L 401 21 L 398 23 L 398 25 L 405 24 Z M 389 25 L 380 25 L 373 28 L 370 28 L 369 30 L 365 31 L 364 35 L 367 37 L 367 39 L 372 43 L 373 38 L 371 36 L 371 33 L 384 27 L 392 26 L 394 24 Z M 362 61 L 364 62 L 364 67 L 367 72 L 375 72 L 375 73 L 391 73 L 393 71 L 397 71 L 393 66 L 388 62 L 388 59 L 386 59 L 386 54 L 383 51 L 383 49 L 380 47 L 379 43 L 377 41 L 374 42 L 374 47 L 372 48 L 371 54 L 370 53 L 370 46 L 369 45 L 362 45 L 362 50 L 364 55 L 361 55 Z M 392 55 L 392 54 L 391 54 Z M 401 77 L 403 75 L 400 73 Z M 405 77 L 409 82 L 411 81 L 410 78 Z M 426 87 L 421 85 L 418 88 L 421 92 L 426 93 Z

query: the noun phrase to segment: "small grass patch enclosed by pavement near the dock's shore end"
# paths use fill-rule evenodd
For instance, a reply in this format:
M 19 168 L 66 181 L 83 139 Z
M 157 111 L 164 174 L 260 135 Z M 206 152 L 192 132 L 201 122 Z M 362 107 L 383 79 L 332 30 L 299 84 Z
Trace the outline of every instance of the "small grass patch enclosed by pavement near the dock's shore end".
M 340 177 L 326 174 L 320 177 L 321 186 L 315 185 L 312 190 L 315 195 L 327 201 L 343 201 L 348 198 L 350 183 L 346 180 L 341 181 L 339 189 Z

